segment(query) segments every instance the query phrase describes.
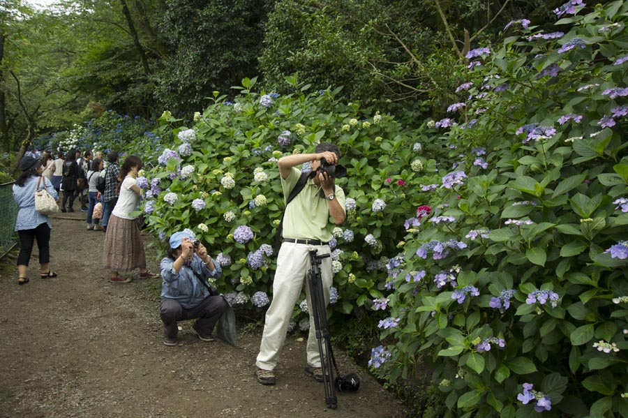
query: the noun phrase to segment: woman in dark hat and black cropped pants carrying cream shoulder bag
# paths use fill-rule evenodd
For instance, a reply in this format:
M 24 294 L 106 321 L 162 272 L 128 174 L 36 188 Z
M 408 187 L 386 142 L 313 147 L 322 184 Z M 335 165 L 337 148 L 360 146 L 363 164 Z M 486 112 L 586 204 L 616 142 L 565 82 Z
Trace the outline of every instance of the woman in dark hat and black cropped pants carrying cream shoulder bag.
M 50 219 L 35 210 L 35 192 L 45 188 L 53 199 L 59 198 L 52 183 L 41 177 L 41 161 L 31 156 L 25 156 L 20 161 L 22 175 L 13 184 L 13 199 L 19 208 L 15 230 L 20 237 L 20 255 L 17 256 L 17 284 L 29 283 L 26 271 L 31 260 L 33 244 L 37 240 L 39 248 L 39 264 L 41 278 L 57 277 L 57 273 L 50 271 Z

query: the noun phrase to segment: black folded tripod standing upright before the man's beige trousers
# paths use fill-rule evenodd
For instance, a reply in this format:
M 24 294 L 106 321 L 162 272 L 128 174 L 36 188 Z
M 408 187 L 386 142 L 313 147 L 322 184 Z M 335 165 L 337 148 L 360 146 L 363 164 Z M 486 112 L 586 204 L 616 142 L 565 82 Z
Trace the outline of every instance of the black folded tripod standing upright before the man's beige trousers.
M 327 311 L 320 276 L 320 260 L 329 257 L 329 254 L 316 255 L 316 253 L 317 250 L 310 250 L 312 267 L 308 274 L 308 284 L 310 286 L 316 339 L 318 340 L 318 352 L 320 352 L 320 364 L 323 369 L 325 403 L 327 408 L 335 410 L 338 408 L 338 398 L 336 398 L 336 389 L 334 387 L 334 370 L 331 368 L 331 356 L 333 354 L 331 354 L 331 341 L 329 341 L 329 330 L 327 329 Z

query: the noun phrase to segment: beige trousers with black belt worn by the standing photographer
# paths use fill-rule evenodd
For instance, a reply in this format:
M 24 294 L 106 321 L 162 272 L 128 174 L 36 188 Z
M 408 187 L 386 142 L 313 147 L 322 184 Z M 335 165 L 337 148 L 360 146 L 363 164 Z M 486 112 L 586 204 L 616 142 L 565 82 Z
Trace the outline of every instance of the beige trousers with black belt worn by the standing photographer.
M 316 340 L 312 301 L 308 286 L 308 270 L 311 267 L 309 249 L 318 250 L 317 255 L 329 254 L 329 246 L 311 246 L 284 242 L 281 244 L 277 257 L 277 270 L 273 281 L 273 300 L 266 312 L 264 333 L 260 354 L 255 364 L 265 370 L 274 370 L 277 365 L 277 354 L 285 342 L 288 323 L 292 318 L 294 304 L 297 303 L 301 290 L 306 289 L 308 311 L 310 313 L 310 334 L 307 344 L 307 362 L 310 366 L 320 367 L 320 353 Z M 331 257 L 323 258 L 320 264 L 322 288 L 325 306 L 329 305 L 329 289 L 331 288 Z

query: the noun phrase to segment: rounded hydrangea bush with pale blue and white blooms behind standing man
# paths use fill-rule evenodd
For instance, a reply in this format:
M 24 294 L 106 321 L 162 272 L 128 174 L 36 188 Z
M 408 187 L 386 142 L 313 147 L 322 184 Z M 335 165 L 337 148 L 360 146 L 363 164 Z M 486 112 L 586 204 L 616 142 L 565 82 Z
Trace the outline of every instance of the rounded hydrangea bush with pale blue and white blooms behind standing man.
M 164 145 L 156 167 L 142 173 L 149 228 L 165 239 L 189 227 L 212 255 L 220 253 L 221 263 L 228 260 L 215 283 L 227 300 L 262 308 L 266 299 L 260 292 L 272 297 L 271 245 L 284 209 L 277 160 L 334 142 L 349 175 L 338 179 L 347 195 L 347 221 L 334 229 L 330 243 L 332 308 L 379 318 L 370 308 L 383 295 L 387 255 L 397 251 L 405 214 L 417 211 L 405 193 L 411 184 L 438 178 L 435 159 L 421 148 L 427 136 L 376 107 L 339 103 L 340 89 L 309 91 L 296 77 L 287 81 L 293 94 L 258 93 L 255 79 L 243 80 L 233 103 L 216 92 L 191 126 L 164 112 L 160 135 L 170 132 L 172 142 Z M 304 164 L 302 170 L 311 167 Z M 306 318 L 298 305 L 294 315 L 297 324 Z

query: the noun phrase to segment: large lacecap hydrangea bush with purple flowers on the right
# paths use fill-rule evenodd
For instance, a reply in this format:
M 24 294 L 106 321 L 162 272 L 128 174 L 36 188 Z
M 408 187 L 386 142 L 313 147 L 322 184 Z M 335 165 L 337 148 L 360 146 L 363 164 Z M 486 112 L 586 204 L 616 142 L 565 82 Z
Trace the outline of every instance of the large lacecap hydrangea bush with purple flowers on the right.
M 428 363 L 464 417 L 628 417 L 628 3 L 555 13 L 468 53 L 457 158 L 375 301 L 373 370 Z

